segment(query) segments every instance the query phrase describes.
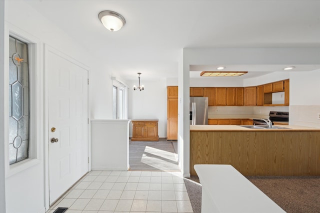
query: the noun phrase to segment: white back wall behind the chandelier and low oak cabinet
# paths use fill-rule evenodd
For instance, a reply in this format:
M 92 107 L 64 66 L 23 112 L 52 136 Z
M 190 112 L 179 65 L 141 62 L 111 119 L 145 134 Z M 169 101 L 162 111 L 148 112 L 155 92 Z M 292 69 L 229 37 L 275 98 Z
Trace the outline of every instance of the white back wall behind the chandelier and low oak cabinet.
M 132 89 L 138 78 L 128 81 L 128 119 L 159 119 L 158 135 L 166 137 L 166 79 L 144 80 L 141 75 L 140 83 L 144 85 L 142 91 Z M 132 136 L 132 123 L 129 135 Z

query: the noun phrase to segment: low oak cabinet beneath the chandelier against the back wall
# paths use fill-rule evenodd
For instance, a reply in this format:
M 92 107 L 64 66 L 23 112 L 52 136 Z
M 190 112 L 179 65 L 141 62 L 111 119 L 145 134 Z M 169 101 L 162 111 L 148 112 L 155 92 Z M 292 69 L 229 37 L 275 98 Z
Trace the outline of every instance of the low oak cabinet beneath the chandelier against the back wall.
M 133 119 L 131 141 L 158 141 L 158 119 Z

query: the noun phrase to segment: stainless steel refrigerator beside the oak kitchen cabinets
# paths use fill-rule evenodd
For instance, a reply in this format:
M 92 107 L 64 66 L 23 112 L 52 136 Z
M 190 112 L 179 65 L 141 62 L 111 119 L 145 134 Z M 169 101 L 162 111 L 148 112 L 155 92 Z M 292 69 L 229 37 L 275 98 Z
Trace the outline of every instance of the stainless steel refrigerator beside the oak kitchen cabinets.
M 190 97 L 190 125 L 208 124 L 208 98 Z

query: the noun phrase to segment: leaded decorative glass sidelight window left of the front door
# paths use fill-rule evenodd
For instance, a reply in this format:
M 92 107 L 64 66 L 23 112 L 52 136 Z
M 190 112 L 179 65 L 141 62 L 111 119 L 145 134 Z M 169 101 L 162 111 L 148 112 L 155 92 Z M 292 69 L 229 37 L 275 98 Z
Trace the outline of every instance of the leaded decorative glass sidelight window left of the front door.
M 28 158 L 29 73 L 27 44 L 9 37 L 9 162 Z

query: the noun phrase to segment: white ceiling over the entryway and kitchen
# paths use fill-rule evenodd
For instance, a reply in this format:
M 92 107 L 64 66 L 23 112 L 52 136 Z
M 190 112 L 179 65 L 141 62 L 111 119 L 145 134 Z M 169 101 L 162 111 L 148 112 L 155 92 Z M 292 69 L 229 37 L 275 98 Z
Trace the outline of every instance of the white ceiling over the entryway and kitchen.
M 177 77 L 178 56 L 184 47 L 320 47 L 320 0 L 26 2 L 127 80 L 135 80 L 137 72 L 145 79 Z M 105 29 L 97 18 L 102 10 L 124 16 L 124 27 L 116 32 Z M 199 67 L 194 68 L 196 73 Z M 228 68 L 249 70 L 252 77 L 283 66 Z

